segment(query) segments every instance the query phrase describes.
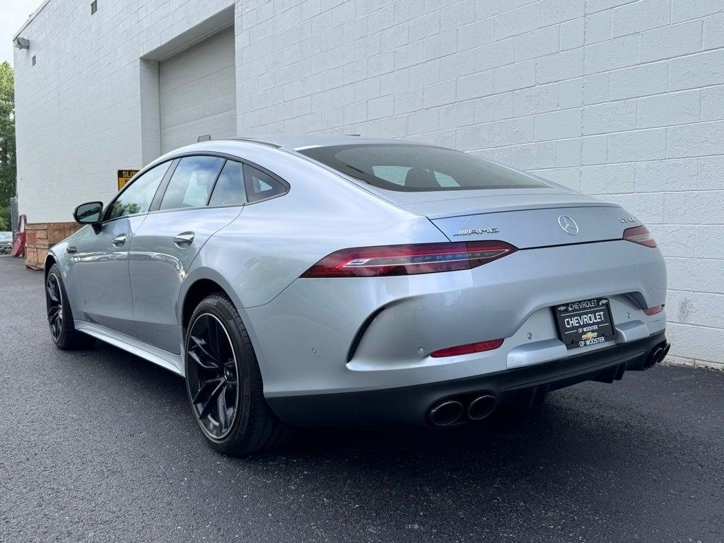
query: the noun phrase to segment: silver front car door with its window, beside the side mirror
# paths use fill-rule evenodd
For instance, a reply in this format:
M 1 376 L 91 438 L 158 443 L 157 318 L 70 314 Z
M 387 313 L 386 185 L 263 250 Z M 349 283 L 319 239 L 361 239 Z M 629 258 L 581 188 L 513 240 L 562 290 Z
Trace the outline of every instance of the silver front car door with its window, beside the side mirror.
M 136 177 L 111 201 L 103 222 L 86 227 L 67 248 L 80 296 L 74 305 L 83 311 L 75 318 L 132 334 L 129 248 L 168 169 L 159 164 Z

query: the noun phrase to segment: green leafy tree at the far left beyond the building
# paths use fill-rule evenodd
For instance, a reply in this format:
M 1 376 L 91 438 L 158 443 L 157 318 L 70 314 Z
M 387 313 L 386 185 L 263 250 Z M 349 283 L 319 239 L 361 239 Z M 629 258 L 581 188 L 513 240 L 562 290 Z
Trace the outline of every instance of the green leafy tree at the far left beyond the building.
M 10 198 L 15 195 L 15 91 L 12 66 L 0 64 L 0 230 L 10 230 Z

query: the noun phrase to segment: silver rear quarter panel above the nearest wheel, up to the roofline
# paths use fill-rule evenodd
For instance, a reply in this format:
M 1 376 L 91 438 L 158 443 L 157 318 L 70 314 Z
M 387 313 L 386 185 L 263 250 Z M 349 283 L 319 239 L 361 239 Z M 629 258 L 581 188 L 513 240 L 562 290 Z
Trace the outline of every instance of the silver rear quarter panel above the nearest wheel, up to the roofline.
M 246 205 L 216 232 L 189 269 L 182 298 L 193 282 L 212 279 L 227 285 L 237 308 L 260 306 L 342 248 L 447 241 L 424 216 L 292 153 L 265 151 L 256 164 L 286 180 L 289 192 Z

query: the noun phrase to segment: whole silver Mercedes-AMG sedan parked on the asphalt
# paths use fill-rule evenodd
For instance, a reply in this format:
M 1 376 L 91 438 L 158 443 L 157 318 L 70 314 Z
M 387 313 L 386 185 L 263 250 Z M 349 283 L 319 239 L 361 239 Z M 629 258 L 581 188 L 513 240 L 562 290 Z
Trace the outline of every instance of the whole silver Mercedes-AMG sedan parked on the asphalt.
M 185 376 L 230 455 L 294 426 L 478 421 L 668 352 L 666 271 L 620 206 L 447 148 L 355 136 L 153 161 L 46 265 L 59 348 Z

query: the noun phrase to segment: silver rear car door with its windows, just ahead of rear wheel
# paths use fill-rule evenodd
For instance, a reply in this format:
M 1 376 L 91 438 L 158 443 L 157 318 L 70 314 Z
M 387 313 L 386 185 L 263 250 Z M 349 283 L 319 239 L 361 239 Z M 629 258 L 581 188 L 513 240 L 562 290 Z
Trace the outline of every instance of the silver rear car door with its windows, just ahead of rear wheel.
M 243 164 L 220 156 L 184 156 L 146 221 L 133 236 L 130 281 L 134 335 L 181 352 L 177 303 L 186 271 L 214 232 L 245 203 Z

